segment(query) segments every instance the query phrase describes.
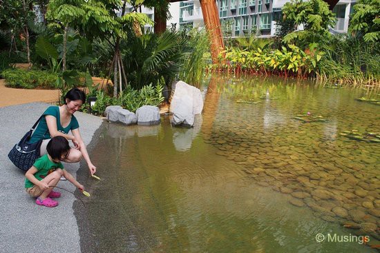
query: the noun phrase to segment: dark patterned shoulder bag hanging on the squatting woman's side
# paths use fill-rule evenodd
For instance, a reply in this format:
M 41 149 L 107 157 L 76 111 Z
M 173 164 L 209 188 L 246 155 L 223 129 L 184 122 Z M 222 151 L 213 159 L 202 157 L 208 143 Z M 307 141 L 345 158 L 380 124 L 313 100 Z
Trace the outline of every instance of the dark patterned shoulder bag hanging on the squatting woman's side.
M 30 167 L 32 167 L 33 163 L 35 163 L 36 159 L 39 157 L 39 148 L 41 147 L 41 143 L 44 137 L 36 143 L 28 143 L 28 141 L 30 140 L 32 132 L 35 130 L 42 116 L 44 115 L 41 115 L 41 117 L 39 117 L 32 128 L 22 137 L 21 141 L 19 141 L 19 143 L 17 143 L 8 154 L 10 161 L 12 161 L 12 163 L 15 164 L 17 168 L 23 170 L 23 172 L 29 170 Z

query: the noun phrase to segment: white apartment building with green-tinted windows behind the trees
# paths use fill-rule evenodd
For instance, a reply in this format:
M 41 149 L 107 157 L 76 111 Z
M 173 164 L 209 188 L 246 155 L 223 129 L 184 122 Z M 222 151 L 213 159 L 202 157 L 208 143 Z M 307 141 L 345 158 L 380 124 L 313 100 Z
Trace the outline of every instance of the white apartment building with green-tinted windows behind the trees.
M 270 37 L 276 34 L 276 20 L 289 0 L 217 0 L 222 32 L 226 37 L 256 34 Z M 348 21 L 355 0 L 340 0 L 333 12 L 336 14 L 334 32 L 347 32 Z M 204 27 L 199 0 L 180 2 L 180 29 Z

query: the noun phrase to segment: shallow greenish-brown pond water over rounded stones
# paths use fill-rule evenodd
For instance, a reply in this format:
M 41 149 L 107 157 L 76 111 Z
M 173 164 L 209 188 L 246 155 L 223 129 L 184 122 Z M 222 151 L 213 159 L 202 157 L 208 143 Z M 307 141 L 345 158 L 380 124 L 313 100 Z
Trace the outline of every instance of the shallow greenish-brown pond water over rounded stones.
M 377 92 L 234 77 L 202 90 L 194 128 L 99 128 L 102 180 L 78 173 L 82 252 L 376 252 L 380 144 L 355 133 L 380 133 L 379 105 L 356 100 Z

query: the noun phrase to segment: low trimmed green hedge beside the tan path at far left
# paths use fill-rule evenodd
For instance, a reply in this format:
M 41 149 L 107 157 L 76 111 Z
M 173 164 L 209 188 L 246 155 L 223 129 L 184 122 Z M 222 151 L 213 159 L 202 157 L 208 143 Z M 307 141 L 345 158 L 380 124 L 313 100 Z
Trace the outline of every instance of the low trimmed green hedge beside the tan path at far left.
M 3 70 L 6 86 L 11 88 L 55 88 L 57 74 L 41 70 Z

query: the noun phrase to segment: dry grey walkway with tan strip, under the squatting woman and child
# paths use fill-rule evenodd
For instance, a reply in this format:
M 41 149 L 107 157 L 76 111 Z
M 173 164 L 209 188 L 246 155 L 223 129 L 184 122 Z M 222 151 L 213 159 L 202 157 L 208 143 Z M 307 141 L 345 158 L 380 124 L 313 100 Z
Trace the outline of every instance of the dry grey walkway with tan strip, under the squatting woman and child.
M 36 205 L 24 190 L 23 172 L 8 159 L 12 146 L 50 105 L 29 103 L 30 99 L 55 101 L 57 91 L 7 89 L 0 88 L 0 252 L 80 252 L 79 230 L 73 214 L 75 196 L 61 190 L 57 208 Z M 26 104 L 6 106 L 15 103 Z M 84 142 L 90 143 L 102 119 L 82 112 L 76 112 L 75 117 Z M 64 165 L 76 177 L 79 163 Z M 60 181 L 58 186 L 75 191 L 68 181 Z

